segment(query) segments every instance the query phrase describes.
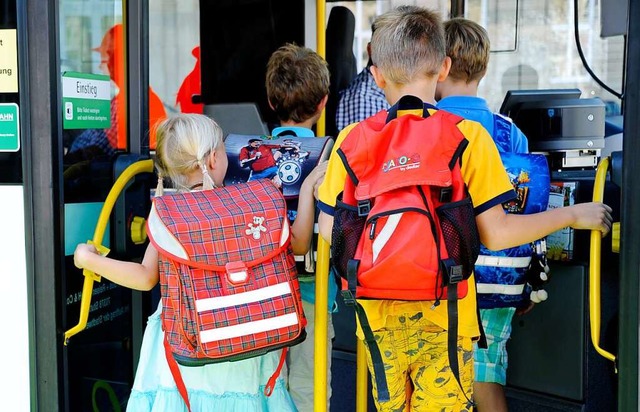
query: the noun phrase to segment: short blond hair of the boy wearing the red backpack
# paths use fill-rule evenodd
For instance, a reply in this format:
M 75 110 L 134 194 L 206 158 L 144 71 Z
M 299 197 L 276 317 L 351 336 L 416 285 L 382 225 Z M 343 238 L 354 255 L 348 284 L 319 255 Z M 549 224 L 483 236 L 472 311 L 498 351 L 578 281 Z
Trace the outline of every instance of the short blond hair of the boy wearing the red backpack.
M 440 15 L 422 7 L 400 6 L 374 22 L 371 59 L 387 81 L 407 84 L 418 76 L 435 76 L 444 61 Z

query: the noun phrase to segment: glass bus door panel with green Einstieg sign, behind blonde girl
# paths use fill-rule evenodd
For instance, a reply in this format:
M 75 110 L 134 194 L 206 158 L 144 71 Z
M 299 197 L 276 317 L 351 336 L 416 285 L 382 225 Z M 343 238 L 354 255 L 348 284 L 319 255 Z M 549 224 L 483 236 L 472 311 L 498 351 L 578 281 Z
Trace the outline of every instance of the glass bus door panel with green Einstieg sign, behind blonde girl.
M 125 260 L 141 258 L 146 248 L 151 169 L 125 184 L 115 204 L 105 202 L 117 177 L 149 157 L 155 141 L 148 124 L 166 116 L 152 90 L 140 92 L 147 51 L 134 39 L 144 38 L 139 8 L 146 2 L 128 3 L 58 2 L 62 161 L 54 165 L 62 177 L 63 271 L 57 305 L 67 331 L 61 344 L 68 411 L 126 408 L 146 317 L 159 299 L 158 291 L 142 294 L 99 275 L 86 278 L 73 262 L 76 245 L 88 240 Z M 111 213 L 99 221 L 103 209 Z

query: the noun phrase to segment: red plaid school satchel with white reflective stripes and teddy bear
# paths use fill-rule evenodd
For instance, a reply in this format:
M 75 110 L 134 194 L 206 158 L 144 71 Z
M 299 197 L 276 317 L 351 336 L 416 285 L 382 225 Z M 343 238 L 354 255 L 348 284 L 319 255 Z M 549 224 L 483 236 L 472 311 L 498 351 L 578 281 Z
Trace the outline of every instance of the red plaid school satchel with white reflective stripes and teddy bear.
M 270 395 L 286 347 L 306 336 L 282 193 L 256 180 L 157 197 L 147 231 L 159 253 L 165 347 L 178 387 L 176 362 L 201 366 L 284 348 Z

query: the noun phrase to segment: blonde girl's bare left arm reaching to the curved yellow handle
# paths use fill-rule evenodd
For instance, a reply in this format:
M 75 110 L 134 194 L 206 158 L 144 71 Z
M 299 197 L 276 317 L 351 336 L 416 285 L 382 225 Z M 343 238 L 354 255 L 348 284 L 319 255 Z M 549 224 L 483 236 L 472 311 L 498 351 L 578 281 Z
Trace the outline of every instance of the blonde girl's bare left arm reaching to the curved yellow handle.
M 73 262 L 79 269 L 88 269 L 135 290 L 151 290 L 159 279 L 158 251 L 151 245 L 147 246 L 142 263 L 135 263 L 101 256 L 93 245 L 81 243 L 73 254 Z

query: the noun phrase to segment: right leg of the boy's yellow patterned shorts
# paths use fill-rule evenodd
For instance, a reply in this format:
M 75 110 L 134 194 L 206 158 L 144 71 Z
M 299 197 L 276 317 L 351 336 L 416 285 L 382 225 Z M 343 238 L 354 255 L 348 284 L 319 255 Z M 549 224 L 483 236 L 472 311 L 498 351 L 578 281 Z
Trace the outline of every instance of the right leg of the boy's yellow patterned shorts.
M 408 322 L 409 323 L 409 322 Z M 408 324 L 410 376 L 413 382 L 412 411 L 471 411 L 473 344 L 471 338 L 458 337 L 460 384 L 449 366 L 448 332 L 421 319 Z M 466 394 L 466 396 L 465 396 Z

